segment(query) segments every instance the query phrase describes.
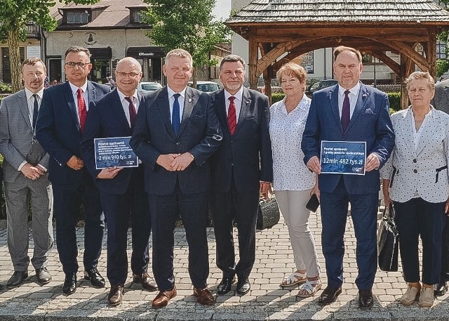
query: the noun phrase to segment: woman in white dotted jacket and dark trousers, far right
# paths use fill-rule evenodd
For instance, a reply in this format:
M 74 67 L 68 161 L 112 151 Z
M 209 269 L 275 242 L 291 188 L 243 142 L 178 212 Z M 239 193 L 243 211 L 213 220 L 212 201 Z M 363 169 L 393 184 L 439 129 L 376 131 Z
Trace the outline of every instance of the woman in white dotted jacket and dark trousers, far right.
M 432 306 L 434 284 L 440 281 L 441 236 L 448 210 L 449 115 L 430 105 L 435 84 L 428 72 L 413 72 L 406 83 L 412 105 L 391 115 L 394 150 L 380 174 L 385 204 L 394 204 L 408 283 L 400 301 L 410 306 L 419 296 L 420 306 Z

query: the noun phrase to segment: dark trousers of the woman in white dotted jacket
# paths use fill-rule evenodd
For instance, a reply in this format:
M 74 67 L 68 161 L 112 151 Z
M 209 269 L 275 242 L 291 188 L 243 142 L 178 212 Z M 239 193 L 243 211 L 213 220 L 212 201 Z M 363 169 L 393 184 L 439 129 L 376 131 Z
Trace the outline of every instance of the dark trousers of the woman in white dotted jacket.
M 440 282 L 441 233 L 445 224 L 445 202 L 426 202 L 415 197 L 407 202 L 394 202 L 399 232 L 399 251 L 404 280 L 420 282 L 418 242 L 422 242 L 422 282 Z

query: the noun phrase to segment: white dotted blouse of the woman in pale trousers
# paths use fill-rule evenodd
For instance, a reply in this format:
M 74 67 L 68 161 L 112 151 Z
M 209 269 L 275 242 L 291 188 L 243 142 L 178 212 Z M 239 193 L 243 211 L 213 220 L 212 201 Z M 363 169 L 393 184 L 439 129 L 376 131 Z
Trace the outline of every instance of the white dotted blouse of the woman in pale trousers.
M 304 164 L 301 150 L 310 101 L 302 96 L 290 113 L 287 113 L 285 98 L 270 107 L 274 190 L 309 190 L 315 185 L 315 174 Z

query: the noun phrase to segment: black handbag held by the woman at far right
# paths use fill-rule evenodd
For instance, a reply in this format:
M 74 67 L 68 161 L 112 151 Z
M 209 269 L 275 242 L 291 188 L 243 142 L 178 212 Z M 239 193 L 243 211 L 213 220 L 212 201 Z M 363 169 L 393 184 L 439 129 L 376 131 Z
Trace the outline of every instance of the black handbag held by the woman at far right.
M 394 207 L 385 207 L 377 232 L 377 258 L 382 271 L 398 270 L 399 233 L 394 223 Z

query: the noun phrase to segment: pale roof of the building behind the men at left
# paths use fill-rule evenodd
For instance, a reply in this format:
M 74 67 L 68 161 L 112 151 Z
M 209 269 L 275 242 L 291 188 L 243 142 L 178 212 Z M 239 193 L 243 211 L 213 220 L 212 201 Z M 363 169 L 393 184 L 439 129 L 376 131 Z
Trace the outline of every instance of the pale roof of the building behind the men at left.
M 58 29 L 74 29 L 75 28 L 102 28 L 110 29 L 111 27 L 130 27 L 130 8 L 133 7 L 145 7 L 145 4 L 142 0 L 100 0 L 97 4 L 89 5 L 78 5 L 76 6 L 73 3 L 64 5 L 60 4 L 59 1 L 55 1 L 55 6 L 51 9 L 51 13 L 53 13 L 53 17 L 58 20 Z M 67 8 L 92 8 L 92 9 L 100 9 L 104 8 L 100 15 L 98 15 L 92 22 L 89 22 L 86 25 L 64 25 L 61 26 L 62 15 L 58 9 L 67 9 Z M 145 27 L 146 25 L 135 25 L 140 27 Z

